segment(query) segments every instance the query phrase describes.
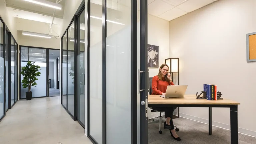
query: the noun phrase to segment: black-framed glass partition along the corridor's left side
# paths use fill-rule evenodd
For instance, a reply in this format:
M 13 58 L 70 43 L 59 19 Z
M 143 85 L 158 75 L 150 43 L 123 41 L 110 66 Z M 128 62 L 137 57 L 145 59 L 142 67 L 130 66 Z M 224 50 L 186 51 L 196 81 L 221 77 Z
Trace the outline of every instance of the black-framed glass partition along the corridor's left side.
M 18 101 L 17 45 L 0 17 L 0 121 Z

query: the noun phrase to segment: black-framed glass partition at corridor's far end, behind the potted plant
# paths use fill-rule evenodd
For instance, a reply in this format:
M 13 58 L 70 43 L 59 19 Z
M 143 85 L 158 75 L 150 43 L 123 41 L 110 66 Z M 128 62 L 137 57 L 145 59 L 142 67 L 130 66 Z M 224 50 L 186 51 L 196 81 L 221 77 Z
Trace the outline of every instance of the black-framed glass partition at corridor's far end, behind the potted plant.
M 32 98 L 42 98 L 49 96 L 60 96 L 60 91 L 56 89 L 58 81 L 57 59 L 60 56 L 60 50 L 38 47 L 20 46 L 20 70 L 31 61 L 34 65 L 40 66 L 36 81 L 36 87 L 31 87 Z M 20 75 L 20 81 L 23 76 Z M 26 99 L 28 88 L 23 88 L 20 83 L 20 99 Z

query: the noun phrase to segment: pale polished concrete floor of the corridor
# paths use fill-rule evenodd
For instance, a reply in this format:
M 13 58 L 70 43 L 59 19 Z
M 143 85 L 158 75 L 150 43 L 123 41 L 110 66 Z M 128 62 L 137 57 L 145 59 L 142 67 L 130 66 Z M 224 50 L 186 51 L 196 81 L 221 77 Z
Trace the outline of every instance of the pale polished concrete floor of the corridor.
M 0 122 L 0 144 L 92 144 L 61 97 L 19 100 Z

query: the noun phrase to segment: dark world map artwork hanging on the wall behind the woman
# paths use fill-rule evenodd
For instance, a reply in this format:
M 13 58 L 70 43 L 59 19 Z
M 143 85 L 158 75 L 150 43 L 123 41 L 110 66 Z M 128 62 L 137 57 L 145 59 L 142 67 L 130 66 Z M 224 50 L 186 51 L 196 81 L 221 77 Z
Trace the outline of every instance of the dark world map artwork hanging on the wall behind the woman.
M 148 67 L 158 68 L 159 65 L 159 46 L 148 44 Z

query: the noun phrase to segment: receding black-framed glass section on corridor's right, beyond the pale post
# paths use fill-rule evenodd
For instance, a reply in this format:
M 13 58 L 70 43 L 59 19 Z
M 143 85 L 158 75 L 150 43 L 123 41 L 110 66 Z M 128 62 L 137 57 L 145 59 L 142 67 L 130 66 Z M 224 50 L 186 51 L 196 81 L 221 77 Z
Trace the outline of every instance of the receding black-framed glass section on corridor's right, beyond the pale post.
M 79 40 L 77 40 L 79 39 Z M 61 39 L 61 104 L 85 126 L 85 11 L 76 12 Z

